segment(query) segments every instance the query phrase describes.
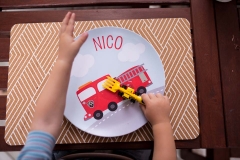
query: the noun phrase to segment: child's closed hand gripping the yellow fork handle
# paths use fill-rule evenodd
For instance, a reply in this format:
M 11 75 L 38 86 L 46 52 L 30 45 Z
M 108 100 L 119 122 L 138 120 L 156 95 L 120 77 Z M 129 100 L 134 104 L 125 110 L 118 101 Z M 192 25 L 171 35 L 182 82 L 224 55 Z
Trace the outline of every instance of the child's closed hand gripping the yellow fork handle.
M 142 94 L 145 106 L 141 105 L 143 113 L 152 126 L 170 122 L 169 114 L 171 111 L 170 102 L 167 96 L 160 93 Z

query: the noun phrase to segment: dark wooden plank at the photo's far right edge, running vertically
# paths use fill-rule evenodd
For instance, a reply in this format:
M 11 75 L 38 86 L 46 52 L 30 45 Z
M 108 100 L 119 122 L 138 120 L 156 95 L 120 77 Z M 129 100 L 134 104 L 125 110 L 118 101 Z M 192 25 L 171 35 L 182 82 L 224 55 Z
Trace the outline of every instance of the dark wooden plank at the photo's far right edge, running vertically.
M 227 147 L 235 148 L 240 147 L 240 50 L 235 49 L 240 46 L 240 35 L 236 0 L 226 4 L 215 2 L 215 12 Z

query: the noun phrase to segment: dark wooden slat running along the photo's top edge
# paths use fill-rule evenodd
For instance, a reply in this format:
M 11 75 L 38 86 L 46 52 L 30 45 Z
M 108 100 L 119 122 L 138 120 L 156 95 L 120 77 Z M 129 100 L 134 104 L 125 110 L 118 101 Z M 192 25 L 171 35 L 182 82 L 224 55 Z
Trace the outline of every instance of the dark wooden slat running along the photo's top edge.
M 25 1 L 11 0 L 0 1 L 3 9 L 12 8 L 35 8 L 35 7 L 77 7 L 77 6 L 96 6 L 96 5 L 129 5 L 129 4 L 189 4 L 190 0 L 31 0 Z

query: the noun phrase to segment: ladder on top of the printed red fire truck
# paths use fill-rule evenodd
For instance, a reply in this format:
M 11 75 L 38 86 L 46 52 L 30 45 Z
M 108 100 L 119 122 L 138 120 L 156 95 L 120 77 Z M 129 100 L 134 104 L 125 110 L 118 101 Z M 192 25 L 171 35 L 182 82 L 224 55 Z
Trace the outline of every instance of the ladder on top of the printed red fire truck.
M 131 79 L 133 79 L 134 77 L 137 77 L 140 73 L 143 73 L 145 71 L 147 71 L 147 69 L 143 68 L 144 64 L 138 65 L 137 67 L 131 69 L 130 71 L 120 75 L 117 77 L 118 81 L 123 84 Z

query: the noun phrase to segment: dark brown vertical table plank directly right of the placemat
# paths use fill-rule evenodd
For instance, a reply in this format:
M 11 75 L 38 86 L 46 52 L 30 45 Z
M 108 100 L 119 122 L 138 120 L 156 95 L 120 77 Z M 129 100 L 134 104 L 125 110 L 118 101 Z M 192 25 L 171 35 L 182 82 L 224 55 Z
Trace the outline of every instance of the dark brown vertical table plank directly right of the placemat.
M 213 1 L 191 1 L 201 147 L 225 147 Z

